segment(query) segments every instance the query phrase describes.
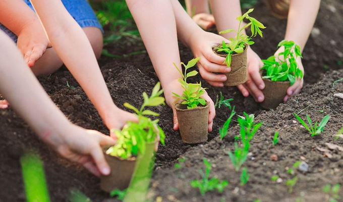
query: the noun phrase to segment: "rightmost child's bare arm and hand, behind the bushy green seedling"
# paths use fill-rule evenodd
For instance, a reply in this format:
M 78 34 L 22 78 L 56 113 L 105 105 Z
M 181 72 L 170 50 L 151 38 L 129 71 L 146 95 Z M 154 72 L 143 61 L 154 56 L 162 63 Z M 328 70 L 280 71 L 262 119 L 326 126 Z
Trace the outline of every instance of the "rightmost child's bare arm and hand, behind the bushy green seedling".
M 310 36 L 314 22 L 317 18 L 320 0 L 291 0 L 290 11 L 288 14 L 285 40 L 293 40 L 300 46 L 303 52 L 308 37 Z M 275 54 L 282 51 L 278 49 Z M 304 67 L 301 58 L 297 59 L 299 68 L 304 72 Z M 287 95 L 283 101 L 287 101 L 289 97 L 300 92 L 303 87 L 304 79 L 298 80 L 287 89 Z

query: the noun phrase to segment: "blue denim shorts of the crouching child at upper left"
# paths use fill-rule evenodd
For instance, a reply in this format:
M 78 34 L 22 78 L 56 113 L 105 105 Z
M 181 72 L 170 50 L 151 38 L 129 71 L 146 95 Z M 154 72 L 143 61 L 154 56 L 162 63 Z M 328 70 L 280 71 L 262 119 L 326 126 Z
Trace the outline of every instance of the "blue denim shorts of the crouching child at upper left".
M 34 11 L 29 0 L 23 1 Z M 97 27 L 103 33 L 103 29 L 98 19 L 96 18 L 92 8 L 86 0 L 62 0 L 62 3 L 66 7 L 69 14 L 81 27 Z M 5 27 L 1 23 L 0 29 L 3 30 L 7 35 L 9 35 L 15 42 L 17 42 L 18 37 L 16 36 L 16 34 L 7 29 L 7 27 Z

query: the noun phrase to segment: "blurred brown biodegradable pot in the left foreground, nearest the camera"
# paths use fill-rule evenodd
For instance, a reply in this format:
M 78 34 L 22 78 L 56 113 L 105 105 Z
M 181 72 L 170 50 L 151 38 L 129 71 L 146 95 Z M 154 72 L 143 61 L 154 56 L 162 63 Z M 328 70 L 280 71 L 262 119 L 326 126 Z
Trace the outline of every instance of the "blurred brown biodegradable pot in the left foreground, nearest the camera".
M 136 158 L 132 157 L 127 160 L 122 160 L 119 157 L 107 155 L 105 151 L 108 149 L 104 148 L 105 160 L 108 163 L 111 173 L 109 175 L 101 175 L 100 187 L 102 190 L 111 192 L 115 189 L 124 190 L 128 188 L 133 171 L 135 169 Z

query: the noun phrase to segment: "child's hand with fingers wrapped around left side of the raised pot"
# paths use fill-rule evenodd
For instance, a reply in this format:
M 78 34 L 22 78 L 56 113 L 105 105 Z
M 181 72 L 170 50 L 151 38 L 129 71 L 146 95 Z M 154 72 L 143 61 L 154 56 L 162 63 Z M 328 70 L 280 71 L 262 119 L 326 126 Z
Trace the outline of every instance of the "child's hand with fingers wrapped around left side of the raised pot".
M 212 46 L 221 43 L 222 40 L 226 42 L 228 40 L 205 31 L 194 33 L 191 38 L 189 47 L 194 57 L 200 57 L 197 65 L 202 78 L 213 86 L 224 86 L 223 81 L 226 81 L 226 76 L 224 74 L 214 74 L 213 72 L 227 73 L 231 71 L 231 68 L 223 65 L 225 58 L 215 55 L 212 51 Z

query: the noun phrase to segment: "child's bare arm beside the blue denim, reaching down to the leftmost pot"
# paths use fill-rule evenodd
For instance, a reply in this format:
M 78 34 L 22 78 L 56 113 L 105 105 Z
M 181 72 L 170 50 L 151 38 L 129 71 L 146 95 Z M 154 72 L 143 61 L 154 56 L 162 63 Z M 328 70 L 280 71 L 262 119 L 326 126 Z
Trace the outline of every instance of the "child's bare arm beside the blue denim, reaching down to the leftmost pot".
M 128 120 L 137 120 L 113 103 L 86 34 L 62 2 L 31 0 L 31 3 L 55 52 L 82 86 L 107 128 L 121 128 Z

